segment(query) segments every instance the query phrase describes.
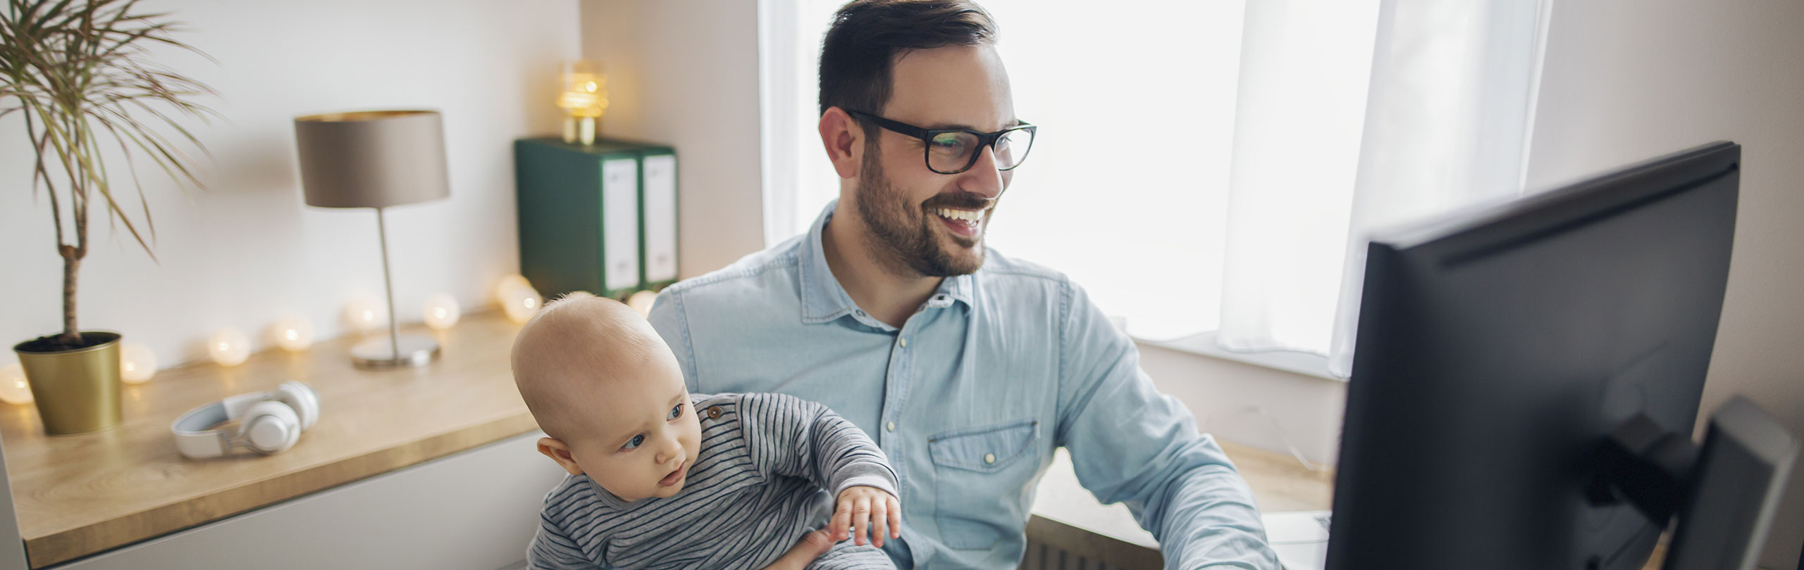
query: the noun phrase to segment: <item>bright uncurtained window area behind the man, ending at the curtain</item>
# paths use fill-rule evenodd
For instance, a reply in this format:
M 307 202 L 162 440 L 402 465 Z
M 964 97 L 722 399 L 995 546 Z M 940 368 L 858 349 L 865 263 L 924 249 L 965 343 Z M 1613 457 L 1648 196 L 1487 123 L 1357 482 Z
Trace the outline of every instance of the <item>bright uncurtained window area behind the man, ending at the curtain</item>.
M 821 34 L 844 2 L 769 4 L 765 161 L 776 177 L 765 233 L 774 245 L 805 233 L 839 195 L 815 132 L 815 81 Z M 983 7 L 1001 31 L 1016 115 L 1041 126 L 996 207 L 989 245 L 1070 274 L 1135 334 L 1214 328 L 1241 2 L 1108 4 L 1100 14 L 1090 2 Z M 1118 23 L 1097 25 L 1109 20 Z M 774 38 L 785 23 L 785 38 Z M 787 108 L 770 114 L 776 106 Z

